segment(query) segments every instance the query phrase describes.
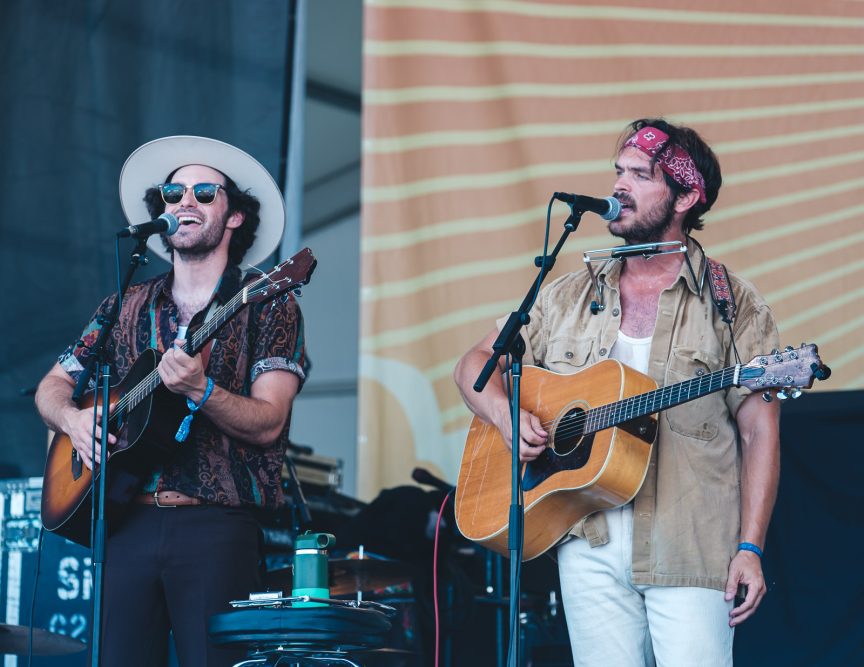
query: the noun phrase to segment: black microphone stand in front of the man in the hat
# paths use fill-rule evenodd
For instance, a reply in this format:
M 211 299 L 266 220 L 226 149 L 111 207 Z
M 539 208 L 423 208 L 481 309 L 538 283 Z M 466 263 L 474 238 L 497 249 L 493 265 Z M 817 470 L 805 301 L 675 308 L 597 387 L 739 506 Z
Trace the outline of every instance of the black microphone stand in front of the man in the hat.
M 118 234 L 119 236 L 119 234 Z M 111 363 L 106 358 L 105 344 L 108 342 L 108 337 L 111 330 L 117 323 L 117 317 L 120 315 L 120 304 L 123 300 L 123 295 L 129 288 L 132 282 L 132 276 L 135 270 L 148 262 L 147 258 L 147 239 L 139 238 L 135 244 L 134 250 L 129 257 L 129 267 L 126 270 L 126 275 L 123 278 L 123 283 L 120 286 L 120 292 L 117 295 L 117 300 L 114 301 L 111 309 L 99 319 L 99 336 L 96 342 L 90 348 L 90 358 L 87 361 L 87 366 L 78 378 L 75 385 L 75 390 L 72 392 L 72 400 L 78 403 L 84 393 L 85 388 L 90 383 L 90 378 L 96 372 L 96 365 L 101 366 L 99 372 L 99 381 L 96 391 L 93 396 L 93 411 L 95 423 L 95 411 L 99 408 L 99 393 L 102 395 L 102 440 L 100 442 L 100 451 L 102 460 L 99 463 L 99 470 L 96 470 L 95 452 L 93 456 L 93 475 L 90 478 L 91 490 L 90 497 L 93 500 L 91 505 L 91 526 L 90 526 L 90 547 L 93 551 L 93 625 L 91 627 L 90 640 L 90 664 L 92 667 L 99 667 L 101 658 L 102 646 L 102 588 L 105 577 L 105 479 L 108 476 L 108 405 L 110 402 L 111 392 Z M 78 452 L 72 449 L 72 475 L 76 479 L 81 475 L 81 466 L 83 462 Z M 98 483 L 96 478 L 99 478 Z M 98 486 L 97 486 L 98 484 Z M 97 501 L 98 499 L 98 501 Z

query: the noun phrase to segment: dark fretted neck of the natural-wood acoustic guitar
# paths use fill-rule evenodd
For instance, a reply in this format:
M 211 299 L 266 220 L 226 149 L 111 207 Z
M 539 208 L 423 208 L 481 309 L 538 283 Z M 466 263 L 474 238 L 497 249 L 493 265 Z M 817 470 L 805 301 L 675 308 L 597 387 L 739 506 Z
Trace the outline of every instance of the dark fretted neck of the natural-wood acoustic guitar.
M 595 433 L 738 384 L 740 365 L 588 410 L 585 433 Z

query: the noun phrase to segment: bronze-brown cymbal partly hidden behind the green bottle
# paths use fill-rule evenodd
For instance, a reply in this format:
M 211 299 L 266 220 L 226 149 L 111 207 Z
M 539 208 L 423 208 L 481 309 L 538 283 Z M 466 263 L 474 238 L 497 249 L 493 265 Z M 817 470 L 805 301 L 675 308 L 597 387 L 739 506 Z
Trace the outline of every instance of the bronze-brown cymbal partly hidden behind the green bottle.
M 411 569 L 403 562 L 378 558 L 332 558 L 328 562 L 330 595 L 350 595 L 396 586 L 411 579 Z M 267 572 L 264 582 L 271 588 L 290 594 L 292 568 Z

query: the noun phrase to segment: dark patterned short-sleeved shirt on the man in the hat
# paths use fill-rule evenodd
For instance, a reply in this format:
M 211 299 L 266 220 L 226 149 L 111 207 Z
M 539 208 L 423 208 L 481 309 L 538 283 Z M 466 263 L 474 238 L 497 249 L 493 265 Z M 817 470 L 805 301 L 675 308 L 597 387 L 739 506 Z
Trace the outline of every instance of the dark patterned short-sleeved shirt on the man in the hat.
M 132 285 L 127 291 L 108 343 L 115 382 L 126 376 L 144 350 L 164 352 L 177 338 L 179 311 L 171 295 L 172 280 L 173 273 L 167 273 Z M 219 306 L 229 301 L 243 282 L 237 267 L 226 268 L 213 303 Z M 88 362 L 89 346 L 99 334 L 100 320 L 115 299 L 112 295 L 99 306 L 81 336 L 83 345 L 76 341 L 59 358 L 76 381 Z M 192 319 L 190 331 L 205 320 L 208 310 L 209 306 Z M 249 395 L 252 383 L 262 373 L 274 370 L 294 373 L 302 388 L 309 368 L 303 318 L 290 294 L 241 309 L 206 347 L 210 349 L 207 375 L 223 389 L 241 396 Z M 158 418 L 151 415 L 151 420 Z M 180 491 L 218 505 L 277 507 L 284 502 L 281 471 L 289 423 L 290 415 L 278 440 L 262 447 L 225 435 L 203 412 L 196 413 L 186 442 L 176 447 L 176 456 L 153 471 L 152 479 L 141 490 Z M 166 426 L 176 429 L 173 424 Z

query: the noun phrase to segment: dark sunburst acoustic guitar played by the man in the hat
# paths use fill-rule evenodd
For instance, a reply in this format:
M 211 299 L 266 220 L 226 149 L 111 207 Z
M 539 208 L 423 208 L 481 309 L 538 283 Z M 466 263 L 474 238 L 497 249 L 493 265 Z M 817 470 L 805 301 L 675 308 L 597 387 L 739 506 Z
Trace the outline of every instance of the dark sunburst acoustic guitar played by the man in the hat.
M 213 336 L 247 304 L 264 302 L 309 282 L 317 261 L 304 248 L 272 271 L 249 283 L 217 308 L 183 348 L 198 354 Z M 135 360 L 126 377 L 111 388 L 109 430 L 117 436 L 109 449 L 105 479 L 106 517 L 122 514 L 124 505 L 140 492 L 141 484 L 156 467 L 187 446 L 174 438 L 188 413 L 185 398 L 168 391 L 156 370 L 161 355 L 153 349 Z M 79 407 L 92 408 L 94 394 L 82 397 Z M 98 482 L 101 466 L 96 465 Z M 57 433 L 48 449 L 42 485 L 42 525 L 73 542 L 89 546 L 93 473 L 86 468 L 65 433 Z

